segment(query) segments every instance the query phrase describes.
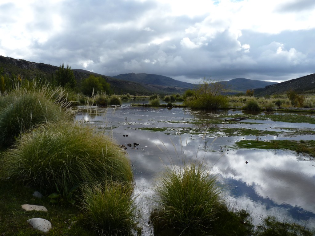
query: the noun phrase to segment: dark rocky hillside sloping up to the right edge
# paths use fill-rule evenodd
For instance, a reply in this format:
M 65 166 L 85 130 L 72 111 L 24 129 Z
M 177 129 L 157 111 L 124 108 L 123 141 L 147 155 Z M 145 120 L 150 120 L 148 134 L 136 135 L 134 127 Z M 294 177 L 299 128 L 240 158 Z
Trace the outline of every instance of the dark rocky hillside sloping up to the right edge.
M 255 89 L 255 95 L 263 96 L 272 94 L 285 94 L 290 89 L 299 94 L 314 94 L 315 74 L 302 76 L 297 79 L 292 79 L 278 84 L 268 85 L 264 88 Z

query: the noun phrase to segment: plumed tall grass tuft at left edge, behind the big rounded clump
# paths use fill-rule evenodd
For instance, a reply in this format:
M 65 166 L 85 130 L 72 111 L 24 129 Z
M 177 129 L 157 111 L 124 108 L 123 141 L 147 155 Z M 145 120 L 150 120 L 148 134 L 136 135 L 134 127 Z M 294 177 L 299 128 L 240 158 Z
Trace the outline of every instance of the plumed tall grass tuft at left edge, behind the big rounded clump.
M 11 145 L 21 133 L 37 125 L 69 120 L 65 111 L 70 110 L 71 103 L 63 97 L 60 89 L 52 91 L 48 87 L 16 88 L 0 97 L 0 145 Z

